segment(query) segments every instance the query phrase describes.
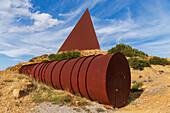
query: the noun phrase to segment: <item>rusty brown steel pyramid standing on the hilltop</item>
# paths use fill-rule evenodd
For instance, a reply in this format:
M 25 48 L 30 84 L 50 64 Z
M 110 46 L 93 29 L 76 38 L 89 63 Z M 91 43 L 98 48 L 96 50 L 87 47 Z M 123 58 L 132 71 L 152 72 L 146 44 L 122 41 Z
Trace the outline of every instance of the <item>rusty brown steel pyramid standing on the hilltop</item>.
M 90 18 L 89 10 L 86 9 L 58 52 L 94 49 L 100 49 L 100 46 Z

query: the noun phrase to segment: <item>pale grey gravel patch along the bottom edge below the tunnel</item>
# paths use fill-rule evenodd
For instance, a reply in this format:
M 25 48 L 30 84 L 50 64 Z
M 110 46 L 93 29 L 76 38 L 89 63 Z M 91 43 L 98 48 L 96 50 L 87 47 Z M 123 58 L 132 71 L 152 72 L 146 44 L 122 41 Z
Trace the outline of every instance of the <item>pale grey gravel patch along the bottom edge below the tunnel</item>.
M 114 108 L 112 109 L 106 109 L 103 107 L 103 105 L 98 104 L 98 103 L 93 103 L 90 106 L 85 106 L 85 107 L 73 107 L 73 106 L 60 106 L 58 104 L 52 104 L 50 102 L 43 102 L 39 104 L 38 106 L 35 106 L 29 110 L 29 113 L 97 113 L 96 109 L 101 108 L 104 110 L 103 113 L 109 112 L 109 113 L 114 113 L 115 110 Z M 102 113 L 102 112 L 100 112 Z

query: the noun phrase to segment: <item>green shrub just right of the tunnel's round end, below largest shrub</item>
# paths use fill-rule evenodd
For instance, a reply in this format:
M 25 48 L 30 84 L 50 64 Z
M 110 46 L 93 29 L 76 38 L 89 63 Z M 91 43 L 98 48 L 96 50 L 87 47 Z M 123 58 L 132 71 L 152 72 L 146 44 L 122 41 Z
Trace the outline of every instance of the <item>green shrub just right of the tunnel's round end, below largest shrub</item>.
M 147 60 L 139 60 L 137 58 L 131 57 L 128 59 L 128 62 L 133 69 L 143 70 L 144 67 L 150 67 L 150 63 Z

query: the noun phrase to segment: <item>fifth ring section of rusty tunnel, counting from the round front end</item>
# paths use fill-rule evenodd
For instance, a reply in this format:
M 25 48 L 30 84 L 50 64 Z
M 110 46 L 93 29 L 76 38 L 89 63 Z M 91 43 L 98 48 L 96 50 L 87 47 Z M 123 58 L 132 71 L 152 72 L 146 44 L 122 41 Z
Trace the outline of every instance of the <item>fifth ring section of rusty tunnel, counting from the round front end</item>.
M 62 89 L 61 82 L 60 82 L 60 74 L 61 74 L 61 70 L 62 70 L 64 64 L 67 61 L 69 61 L 69 60 L 61 60 L 54 66 L 54 69 L 52 71 L 52 83 L 53 83 L 54 88 Z

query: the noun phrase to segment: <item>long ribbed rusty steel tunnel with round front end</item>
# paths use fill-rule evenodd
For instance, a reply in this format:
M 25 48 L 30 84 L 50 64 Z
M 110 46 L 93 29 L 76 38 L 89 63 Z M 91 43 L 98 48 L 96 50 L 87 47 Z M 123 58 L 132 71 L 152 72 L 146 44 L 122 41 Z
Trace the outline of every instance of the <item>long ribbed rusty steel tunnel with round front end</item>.
M 102 104 L 122 107 L 130 93 L 130 68 L 121 53 L 88 56 L 22 66 L 29 74 L 54 88 L 77 93 Z

